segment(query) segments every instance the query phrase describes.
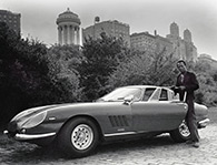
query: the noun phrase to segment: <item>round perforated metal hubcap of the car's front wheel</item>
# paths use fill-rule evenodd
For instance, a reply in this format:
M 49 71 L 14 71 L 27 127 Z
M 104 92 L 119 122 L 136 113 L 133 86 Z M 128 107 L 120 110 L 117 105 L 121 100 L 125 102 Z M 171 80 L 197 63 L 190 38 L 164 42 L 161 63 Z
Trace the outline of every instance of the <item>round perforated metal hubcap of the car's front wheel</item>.
M 88 148 L 93 141 L 93 132 L 92 128 L 87 124 L 78 125 L 72 134 L 71 134 L 71 142 L 73 146 L 79 149 Z

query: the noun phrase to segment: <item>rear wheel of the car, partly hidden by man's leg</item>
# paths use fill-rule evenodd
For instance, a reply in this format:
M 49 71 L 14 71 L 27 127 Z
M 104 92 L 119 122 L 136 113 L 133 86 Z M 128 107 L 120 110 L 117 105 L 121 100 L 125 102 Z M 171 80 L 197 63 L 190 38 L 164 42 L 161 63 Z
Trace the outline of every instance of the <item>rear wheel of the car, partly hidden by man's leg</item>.
M 186 142 L 190 138 L 190 132 L 185 121 L 181 122 L 178 128 L 170 132 L 170 136 L 175 142 Z

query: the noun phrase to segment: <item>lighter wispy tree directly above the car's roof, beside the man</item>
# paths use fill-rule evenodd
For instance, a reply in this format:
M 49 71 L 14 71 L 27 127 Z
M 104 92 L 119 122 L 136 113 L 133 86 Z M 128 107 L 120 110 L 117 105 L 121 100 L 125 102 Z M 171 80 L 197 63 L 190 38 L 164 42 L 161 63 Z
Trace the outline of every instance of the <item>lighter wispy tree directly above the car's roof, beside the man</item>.
M 172 85 L 175 82 L 172 54 L 165 50 L 155 53 L 131 52 L 131 58 L 120 63 L 109 78 L 112 87 L 121 85 Z

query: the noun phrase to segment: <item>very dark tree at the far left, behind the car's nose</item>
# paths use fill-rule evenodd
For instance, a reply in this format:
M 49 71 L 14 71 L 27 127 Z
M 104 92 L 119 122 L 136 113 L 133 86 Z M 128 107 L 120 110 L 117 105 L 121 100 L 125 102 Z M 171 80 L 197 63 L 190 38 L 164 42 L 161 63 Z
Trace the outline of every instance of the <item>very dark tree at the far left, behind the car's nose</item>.
M 0 122 L 4 123 L 27 107 L 49 103 L 51 83 L 45 44 L 20 39 L 0 23 Z

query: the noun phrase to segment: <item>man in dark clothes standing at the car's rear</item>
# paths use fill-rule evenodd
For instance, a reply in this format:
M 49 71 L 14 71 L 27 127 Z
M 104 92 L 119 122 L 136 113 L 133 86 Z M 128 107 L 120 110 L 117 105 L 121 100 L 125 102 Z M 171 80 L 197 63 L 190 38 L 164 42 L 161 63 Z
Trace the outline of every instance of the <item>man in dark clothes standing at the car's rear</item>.
M 190 131 L 190 140 L 187 141 L 187 144 L 191 144 L 194 147 L 199 147 L 199 134 L 194 107 L 194 91 L 199 89 L 199 84 L 196 75 L 193 72 L 187 71 L 186 62 L 184 60 L 177 62 L 177 69 L 180 74 L 177 76 L 176 86 L 172 87 L 172 90 L 175 93 L 179 93 L 180 101 L 185 101 L 188 104 L 186 123 Z

